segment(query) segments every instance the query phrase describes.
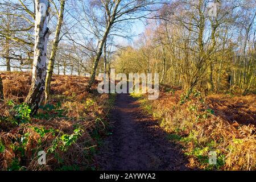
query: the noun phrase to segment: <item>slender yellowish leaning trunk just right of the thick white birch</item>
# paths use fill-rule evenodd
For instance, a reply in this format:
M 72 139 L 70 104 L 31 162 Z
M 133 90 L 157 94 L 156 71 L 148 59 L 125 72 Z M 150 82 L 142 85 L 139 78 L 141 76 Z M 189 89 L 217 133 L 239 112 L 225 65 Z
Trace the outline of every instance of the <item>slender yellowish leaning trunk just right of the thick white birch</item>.
M 53 66 L 54 66 L 54 62 L 55 62 L 57 47 L 58 47 L 59 39 L 60 39 L 61 26 L 63 24 L 64 7 L 65 7 L 65 0 L 61 0 L 59 19 L 58 19 L 58 22 L 57 22 L 57 27 L 56 27 L 56 32 L 55 32 L 55 39 L 53 41 L 51 57 L 49 59 L 47 75 L 46 75 L 46 93 L 45 93 L 46 94 L 46 101 L 49 100 L 49 95 L 50 95 L 50 90 L 51 90 L 51 78 L 52 78 L 52 73 L 53 73 Z

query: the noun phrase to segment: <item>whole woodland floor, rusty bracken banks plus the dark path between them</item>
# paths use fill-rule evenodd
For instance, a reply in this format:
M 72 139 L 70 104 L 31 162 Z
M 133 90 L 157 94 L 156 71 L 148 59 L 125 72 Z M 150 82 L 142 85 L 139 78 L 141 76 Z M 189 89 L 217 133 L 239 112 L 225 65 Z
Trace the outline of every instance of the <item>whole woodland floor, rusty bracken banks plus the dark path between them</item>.
M 20 104 L 31 73 L 1 77 L 6 102 L 0 103 L 0 170 L 255 170 L 253 93 L 201 96 L 196 91 L 184 99 L 183 90 L 166 85 L 158 100 L 148 101 L 88 93 L 88 78 L 55 75 L 51 102 L 35 117 L 20 118 L 27 112 Z M 72 137 L 76 129 L 81 136 L 66 145 L 62 136 Z M 37 151 L 48 151 L 56 140 L 48 165 L 37 165 Z M 218 151 L 216 166 L 208 163 L 211 150 Z

